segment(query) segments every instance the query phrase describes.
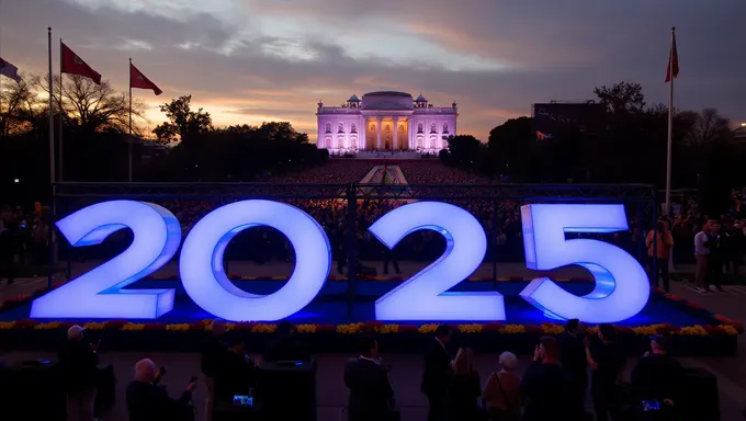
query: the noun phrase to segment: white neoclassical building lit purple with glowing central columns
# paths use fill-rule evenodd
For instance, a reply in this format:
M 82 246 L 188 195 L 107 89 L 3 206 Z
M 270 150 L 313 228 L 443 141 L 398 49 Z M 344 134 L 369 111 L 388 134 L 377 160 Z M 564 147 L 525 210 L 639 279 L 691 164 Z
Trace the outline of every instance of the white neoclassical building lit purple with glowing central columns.
M 318 103 L 319 148 L 330 151 L 420 150 L 437 152 L 456 134 L 456 103 L 432 106 L 420 94 L 369 92 L 342 106 Z

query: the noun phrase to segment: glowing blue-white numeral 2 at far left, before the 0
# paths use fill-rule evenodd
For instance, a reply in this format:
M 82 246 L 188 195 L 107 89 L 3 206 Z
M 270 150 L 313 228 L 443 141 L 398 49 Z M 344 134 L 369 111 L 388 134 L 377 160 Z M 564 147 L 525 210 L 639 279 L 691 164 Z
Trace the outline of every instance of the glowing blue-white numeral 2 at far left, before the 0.
M 101 243 L 123 228 L 132 244 L 120 255 L 36 298 L 31 317 L 159 317 L 173 308 L 173 289 L 122 289 L 166 264 L 181 242 L 181 226 L 165 207 L 152 203 L 112 201 L 88 206 L 59 220 L 72 247 Z

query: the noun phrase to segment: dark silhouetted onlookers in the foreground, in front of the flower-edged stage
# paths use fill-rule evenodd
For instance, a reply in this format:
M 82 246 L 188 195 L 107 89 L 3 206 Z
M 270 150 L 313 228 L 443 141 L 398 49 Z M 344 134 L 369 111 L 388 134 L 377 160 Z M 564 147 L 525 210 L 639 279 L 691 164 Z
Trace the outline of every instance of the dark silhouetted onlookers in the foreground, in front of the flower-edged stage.
M 654 335 L 651 349 L 625 377 L 628 356 L 617 342 L 615 328 L 600 325 L 597 333 L 577 319 L 567 321 L 558 337 L 542 337 L 533 360 L 522 376 L 518 359 L 504 352 L 498 369 L 478 373 L 467 346 L 452 346 L 453 328 L 439 326 L 423 357 L 420 391 L 428 400 L 428 420 L 636 420 L 643 413 L 655 420 L 677 419 L 685 406 L 681 390 L 685 368 L 669 355 L 665 335 Z M 59 354 L 68 419 L 93 420 L 95 369 L 99 342 L 89 342 L 74 326 Z M 452 352 L 455 351 L 455 357 Z M 236 397 L 261 401 L 258 371 L 263 363 L 309 362 L 307 346 L 293 335 L 286 321 L 262 355 L 249 356 L 240 337 L 225 333 L 225 323 L 211 327 L 201 357 L 201 377 L 193 377 L 169 396 L 159 385 L 166 367 L 145 359 L 135 365 L 134 379 L 126 387 L 126 406 L 133 421 L 193 420 L 192 391 L 205 387 L 202 417 L 212 420 Z M 396 391 L 375 337 L 361 335 L 359 355 L 347 361 L 343 382 L 349 390 L 349 421 L 393 421 Z M 589 398 L 589 399 L 588 399 Z M 295 418 L 298 419 L 298 418 Z M 648 419 L 648 418 L 646 418 Z

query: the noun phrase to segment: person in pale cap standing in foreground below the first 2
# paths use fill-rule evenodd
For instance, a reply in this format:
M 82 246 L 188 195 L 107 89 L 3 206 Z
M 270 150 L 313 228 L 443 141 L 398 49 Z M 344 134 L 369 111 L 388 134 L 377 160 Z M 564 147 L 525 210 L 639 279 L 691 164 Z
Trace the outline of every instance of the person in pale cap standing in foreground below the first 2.
M 93 421 L 98 343 L 83 341 L 83 330 L 78 325 L 71 326 L 67 330 L 67 342 L 59 352 L 63 387 L 67 396 L 67 419 L 74 421 Z

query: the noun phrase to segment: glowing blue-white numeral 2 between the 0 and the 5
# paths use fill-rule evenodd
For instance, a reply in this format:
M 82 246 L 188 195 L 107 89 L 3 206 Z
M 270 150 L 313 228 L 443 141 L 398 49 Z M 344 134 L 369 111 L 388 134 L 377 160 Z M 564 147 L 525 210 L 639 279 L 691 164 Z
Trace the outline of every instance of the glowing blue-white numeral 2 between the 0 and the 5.
M 445 252 L 375 301 L 377 320 L 505 320 L 502 295 L 447 293 L 482 263 L 487 239 L 478 220 L 447 203 L 418 202 L 398 207 L 369 230 L 393 249 L 410 232 L 430 229 L 445 237 Z

